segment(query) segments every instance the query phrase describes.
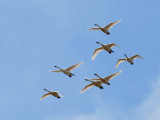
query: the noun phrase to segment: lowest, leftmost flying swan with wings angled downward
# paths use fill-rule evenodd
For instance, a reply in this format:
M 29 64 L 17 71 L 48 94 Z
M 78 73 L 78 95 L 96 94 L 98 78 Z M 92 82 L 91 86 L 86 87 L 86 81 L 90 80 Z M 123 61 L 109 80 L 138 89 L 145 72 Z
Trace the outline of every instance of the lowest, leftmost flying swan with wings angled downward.
M 58 99 L 60 99 L 61 97 L 63 97 L 60 93 L 58 93 L 57 91 L 49 91 L 49 90 L 46 90 L 44 89 L 45 91 L 47 91 L 48 93 L 44 94 L 40 100 L 50 96 L 50 95 L 53 95 L 54 97 L 57 97 Z

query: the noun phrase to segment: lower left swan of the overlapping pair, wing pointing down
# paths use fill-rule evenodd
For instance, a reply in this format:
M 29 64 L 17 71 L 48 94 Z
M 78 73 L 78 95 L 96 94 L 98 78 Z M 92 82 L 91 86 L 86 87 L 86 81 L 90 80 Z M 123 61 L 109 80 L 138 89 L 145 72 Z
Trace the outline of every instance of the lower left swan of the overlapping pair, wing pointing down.
M 81 91 L 80 93 L 83 93 L 84 91 L 92 88 L 93 86 L 96 86 L 96 87 L 99 87 L 100 89 L 104 89 L 103 86 L 101 86 L 102 84 L 102 81 L 100 80 L 97 80 L 97 81 L 92 81 L 92 80 L 88 80 L 88 79 L 85 79 L 86 81 L 90 81 L 91 83 L 89 85 L 86 85 Z

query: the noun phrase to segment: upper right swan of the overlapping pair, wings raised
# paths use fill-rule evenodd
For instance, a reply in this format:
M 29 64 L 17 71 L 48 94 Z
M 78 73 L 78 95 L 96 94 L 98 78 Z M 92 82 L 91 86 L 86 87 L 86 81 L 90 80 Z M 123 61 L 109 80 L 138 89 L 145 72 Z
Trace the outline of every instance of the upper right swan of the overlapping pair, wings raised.
M 103 77 L 103 78 L 100 77 L 100 76 L 97 75 L 97 74 L 94 74 L 94 75 L 96 75 L 98 78 L 89 78 L 89 80 L 100 80 L 100 81 L 102 81 L 102 83 L 107 84 L 107 85 L 110 85 L 109 81 L 110 81 L 111 79 L 113 79 L 114 77 L 116 77 L 117 75 L 119 75 L 121 72 L 122 72 L 122 71 L 120 70 L 120 71 L 117 72 L 117 73 L 111 74 L 111 75 L 109 75 L 109 76 L 107 76 L 107 77 Z

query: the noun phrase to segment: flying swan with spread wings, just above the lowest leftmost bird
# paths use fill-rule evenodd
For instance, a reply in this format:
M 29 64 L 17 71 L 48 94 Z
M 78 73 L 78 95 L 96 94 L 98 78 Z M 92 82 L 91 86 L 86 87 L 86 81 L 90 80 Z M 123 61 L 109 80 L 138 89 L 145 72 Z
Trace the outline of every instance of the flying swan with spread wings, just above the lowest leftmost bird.
M 65 69 L 62 69 L 62 68 L 60 68 L 60 67 L 58 67 L 58 66 L 54 66 L 54 67 L 56 67 L 56 68 L 58 68 L 58 69 L 60 69 L 60 70 L 53 70 L 53 71 L 50 71 L 50 72 L 62 72 L 62 73 L 64 73 L 64 74 L 68 75 L 69 77 L 72 77 L 72 76 L 75 76 L 75 75 L 72 74 L 71 71 L 72 71 L 73 69 L 79 67 L 82 63 L 83 63 L 83 62 L 80 62 L 80 63 L 78 63 L 78 64 L 72 65 L 72 66 L 70 66 L 70 67 L 68 67 L 68 68 L 65 68 Z

